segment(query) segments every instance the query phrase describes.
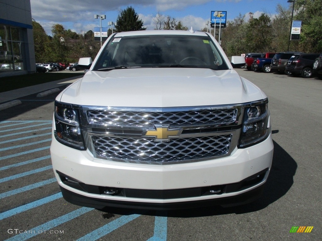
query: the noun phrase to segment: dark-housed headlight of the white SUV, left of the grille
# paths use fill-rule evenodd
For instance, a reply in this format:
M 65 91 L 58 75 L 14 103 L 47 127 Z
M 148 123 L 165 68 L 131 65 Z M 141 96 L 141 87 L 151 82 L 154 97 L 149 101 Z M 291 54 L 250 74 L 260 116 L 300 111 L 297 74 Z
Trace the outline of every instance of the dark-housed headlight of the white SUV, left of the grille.
M 54 136 L 60 143 L 79 150 L 85 150 L 81 134 L 78 110 L 71 105 L 55 102 L 55 131 Z

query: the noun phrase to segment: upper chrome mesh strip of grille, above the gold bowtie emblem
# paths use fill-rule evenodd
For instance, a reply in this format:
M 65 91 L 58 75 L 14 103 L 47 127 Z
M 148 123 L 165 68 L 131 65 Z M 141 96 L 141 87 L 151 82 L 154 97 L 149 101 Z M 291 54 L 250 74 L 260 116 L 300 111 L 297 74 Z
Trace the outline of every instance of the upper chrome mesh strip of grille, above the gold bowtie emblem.
M 236 120 L 237 109 L 197 110 L 182 112 L 86 111 L 90 124 L 109 126 L 153 126 L 227 124 Z

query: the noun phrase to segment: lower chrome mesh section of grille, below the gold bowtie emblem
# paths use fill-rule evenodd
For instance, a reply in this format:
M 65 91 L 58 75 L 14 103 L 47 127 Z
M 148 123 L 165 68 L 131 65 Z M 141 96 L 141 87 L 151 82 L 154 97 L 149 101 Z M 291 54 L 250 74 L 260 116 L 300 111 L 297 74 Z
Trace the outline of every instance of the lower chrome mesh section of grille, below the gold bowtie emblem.
M 121 161 L 171 162 L 221 156 L 228 153 L 232 134 L 173 138 L 156 142 L 153 138 L 92 136 L 98 156 Z

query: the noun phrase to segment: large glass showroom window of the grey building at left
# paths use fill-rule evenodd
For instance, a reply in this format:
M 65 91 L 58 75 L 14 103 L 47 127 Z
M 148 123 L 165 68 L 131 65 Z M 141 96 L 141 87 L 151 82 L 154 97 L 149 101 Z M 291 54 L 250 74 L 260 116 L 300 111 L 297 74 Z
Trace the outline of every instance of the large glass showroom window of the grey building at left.
M 23 29 L 0 24 L 0 72 L 24 70 Z

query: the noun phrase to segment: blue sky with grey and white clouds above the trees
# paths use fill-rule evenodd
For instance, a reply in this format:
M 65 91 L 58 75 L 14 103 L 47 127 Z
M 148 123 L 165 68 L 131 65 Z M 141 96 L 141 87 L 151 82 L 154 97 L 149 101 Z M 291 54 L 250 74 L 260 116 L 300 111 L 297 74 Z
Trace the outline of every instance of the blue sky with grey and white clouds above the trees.
M 261 13 L 276 14 L 277 4 L 289 7 L 287 0 L 30 0 L 32 18 L 39 22 L 48 35 L 52 25 L 61 24 L 64 29 L 84 33 L 94 31 L 100 20 L 94 14 L 106 15 L 102 27 L 116 22 L 120 11 L 132 6 L 147 30 L 156 28 L 153 18 L 157 13 L 182 21 L 189 29 L 200 31 L 211 21 L 211 11 L 226 11 L 227 21 L 240 14 L 249 19 L 249 13 L 258 18 Z

